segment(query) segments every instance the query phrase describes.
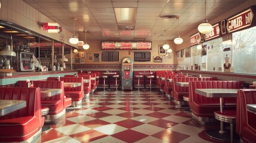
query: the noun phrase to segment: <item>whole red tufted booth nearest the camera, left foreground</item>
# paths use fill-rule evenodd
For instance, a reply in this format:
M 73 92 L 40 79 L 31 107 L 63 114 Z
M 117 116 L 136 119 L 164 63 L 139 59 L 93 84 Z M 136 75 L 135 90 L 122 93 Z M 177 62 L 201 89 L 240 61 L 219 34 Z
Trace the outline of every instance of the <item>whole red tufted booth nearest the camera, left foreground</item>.
M 1 100 L 25 100 L 26 107 L 0 117 L 0 141 L 26 141 L 41 132 L 44 117 L 41 116 L 39 88 L 0 87 Z M 33 137 L 32 137 L 33 138 Z

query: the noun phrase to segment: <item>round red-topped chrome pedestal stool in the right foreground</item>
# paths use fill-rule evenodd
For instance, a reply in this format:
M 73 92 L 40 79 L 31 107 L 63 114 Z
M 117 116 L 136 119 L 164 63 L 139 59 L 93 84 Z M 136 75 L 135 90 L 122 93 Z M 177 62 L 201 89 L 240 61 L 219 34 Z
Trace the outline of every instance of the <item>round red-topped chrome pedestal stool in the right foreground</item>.
M 215 119 L 222 122 L 230 123 L 230 142 L 234 141 L 233 135 L 233 124 L 236 123 L 236 110 L 223 110 L 214 112 Z M 238 141 L 239 137 L 235 138 L 235 141 Z

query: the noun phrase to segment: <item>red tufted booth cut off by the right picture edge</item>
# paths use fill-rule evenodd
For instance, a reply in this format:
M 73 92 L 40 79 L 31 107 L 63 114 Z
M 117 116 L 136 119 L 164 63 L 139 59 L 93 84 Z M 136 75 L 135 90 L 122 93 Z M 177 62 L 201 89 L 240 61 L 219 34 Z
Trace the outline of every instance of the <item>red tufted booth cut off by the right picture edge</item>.
M 246 104 L 256 104 L 256 89 L 241 89 L 236 98 L 236 132 L 243 142 L 255 142 L 256 114 L 247 111 Z

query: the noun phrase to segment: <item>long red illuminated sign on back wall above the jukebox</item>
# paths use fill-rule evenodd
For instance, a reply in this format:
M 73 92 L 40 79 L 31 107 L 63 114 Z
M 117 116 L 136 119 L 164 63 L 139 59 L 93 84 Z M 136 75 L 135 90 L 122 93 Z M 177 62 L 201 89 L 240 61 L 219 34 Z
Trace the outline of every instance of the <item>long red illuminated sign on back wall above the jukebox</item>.
M 147 50 L 152 49 L 152 43 L 148 42 L 101 42 L 101 49 L 139 49 Z

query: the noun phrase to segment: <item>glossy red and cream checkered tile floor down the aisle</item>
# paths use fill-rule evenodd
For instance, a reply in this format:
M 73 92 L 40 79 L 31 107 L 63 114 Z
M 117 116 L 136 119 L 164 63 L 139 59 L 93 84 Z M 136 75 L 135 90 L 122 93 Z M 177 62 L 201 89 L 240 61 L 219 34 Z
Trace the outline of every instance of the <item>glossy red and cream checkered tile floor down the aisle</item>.
M 50 126 L 42 142 L 220 142 L 156 91 L 95 91 L 81 110 Z

